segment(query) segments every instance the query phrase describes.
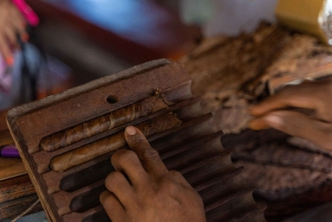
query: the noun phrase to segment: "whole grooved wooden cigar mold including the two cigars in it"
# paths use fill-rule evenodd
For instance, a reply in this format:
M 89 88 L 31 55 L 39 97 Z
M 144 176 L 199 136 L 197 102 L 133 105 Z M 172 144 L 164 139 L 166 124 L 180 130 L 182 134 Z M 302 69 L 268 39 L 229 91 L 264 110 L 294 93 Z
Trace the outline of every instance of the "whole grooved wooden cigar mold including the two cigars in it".
M 9 128 L 49 220 L 110 221 L 98 197 L 134 125 L 199 192 L 209 222 L 264 221 L 190 84 L 183 65 L 158 60 L 11 109 Z

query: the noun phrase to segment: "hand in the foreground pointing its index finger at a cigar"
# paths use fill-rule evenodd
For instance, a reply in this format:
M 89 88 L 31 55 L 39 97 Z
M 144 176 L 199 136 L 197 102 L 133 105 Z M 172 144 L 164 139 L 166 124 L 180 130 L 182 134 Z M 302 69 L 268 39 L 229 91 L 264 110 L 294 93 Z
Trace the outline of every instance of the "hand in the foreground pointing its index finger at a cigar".
M 177 171 L 168 171 L 139 129 L 129 126 L 132 150 L 112 156 L 117 171 L 105 180 L 101 203 L 113 222 L 205 222 L 203 200 Z M 127 177 L 127 178 L 126 178 Z

